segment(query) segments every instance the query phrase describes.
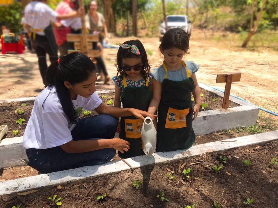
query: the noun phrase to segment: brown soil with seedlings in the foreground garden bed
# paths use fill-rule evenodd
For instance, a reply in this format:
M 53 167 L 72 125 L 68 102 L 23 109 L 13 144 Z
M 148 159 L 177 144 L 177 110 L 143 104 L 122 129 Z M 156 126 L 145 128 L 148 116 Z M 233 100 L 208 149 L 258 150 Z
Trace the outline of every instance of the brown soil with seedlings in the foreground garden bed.
M 167 163 L 148 165 L 118 174 L 108 174 L 91 177 L 78 184 L 68 182 L 61 184 L 62 189 L 56 187 L 43 188 L 36 193 L 22 197 L 4 195 L 0 198 L 0 206 L 10 208 L 20 207 L 38 208 L 50 207 L 49 196 L 54 194 L 62 197 L 62 207 L 185 207 L 196 203 L 196 207 L 213 207 L 213 201 L 222 207 L 246 207 L 243 202 L 253 198 L 251 207 L 277 207 L 277 174 L 278 168 L 269 162 L 278 157 L 277 141 L 265 146 L 237 149 L 230 152 L 214 152 L 195 158 L 174 160 Z M 219 173 L 212 170 L 214 165 L 220 166 L 219 156 L 227 158 L 226 164 Z M 251 160 L 252 165 L 246 167 L 243 160 Z M 199 162 L 199 163 L 197 163 Z M 190 168 L 190 178 L 181 169 Z M 194 164 L 191 164 L 194 163 Z M 196 164 L 197 163 L 197 164 Z M 167 173 L 177 179 L 168 181 Z M 140 181 L 138 190 L 132 185 L 132 180 Z M 88 190 L 92 188 L 88 196 Z M 165 192 L 164 197 L 169 202 L 162 202 L 157 195 Z M 96 197 L 107 194 L 102 202 Z M 5 200 L 5 202 L 4 202 Z M 23 206 L 25 204 L 25 206 Z

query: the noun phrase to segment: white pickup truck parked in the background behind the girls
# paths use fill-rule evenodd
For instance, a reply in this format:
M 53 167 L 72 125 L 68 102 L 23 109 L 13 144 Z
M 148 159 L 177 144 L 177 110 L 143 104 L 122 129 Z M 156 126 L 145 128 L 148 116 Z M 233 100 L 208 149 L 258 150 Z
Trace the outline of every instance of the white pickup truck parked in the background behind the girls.
M 169 15 L 167 16 L 167 26 L 168 29 L 172 29 L 175 27 L 180 27 L 187 32 L 188 36 L 191 35 L 191 21 L 188 20 L 186 15 Z M 165 22 L 162 21 L 159 27 L 159 41 L 162 40 L 162 37 L 165 33 Z

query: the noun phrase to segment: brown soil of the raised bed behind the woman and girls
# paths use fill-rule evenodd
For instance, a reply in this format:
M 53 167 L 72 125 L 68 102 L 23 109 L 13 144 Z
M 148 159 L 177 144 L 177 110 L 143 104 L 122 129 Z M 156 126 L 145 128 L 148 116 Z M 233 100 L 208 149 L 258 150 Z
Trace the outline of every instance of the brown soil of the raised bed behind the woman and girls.
M 222 107 L 222 97 L 202 88 L 201 94 L 203 95 L 201 96 L 201 102 L 204 104 L 207 103 L 208 106 L 205 107 L 205 109 L 202 109 L 202 107 L 200 107 L 200 111 L 216 110 Z M 103 100 L 104 103 L 107 103 L 109 100 L 112 99 L 111 105 L 114 105 L 115 93 L 99 94 L 99 97 Z M 214 98 L 215 101 L 213 101 Z M 21 106 L 23 103 L 26 103 L 26 106 Z M 194 102 L 192 102 L 192 104 L 193 106 L 195 105 Z M 2 119 L 1 125 L 8 125 L 9 131 L 5 138 L 23 136 L 27 122 L 32 112 L 33 105 L 34 101 L 0 103 L 0 117 Z M 239 106 L 237 103 L 234 103 L 232 101 L 229 102 L 229 108 L 237 106 Z M 17 109 L 23 110 L 23 113 L 20 115 Z M 92 115 L 97 115 L 97 112 L 93 110 L 88 116 Z M 84 109 L 82 110 L 80 115 L 80 118 L 83 117 L 85 117 Z M 19 120 L 20 118 L 25 119 L 25 121 L 23 121 L 21 125 L 16 123 L 16 120 Z M 13 135 L 13 130 L 17 130 L 18 133 L 16 135 Z

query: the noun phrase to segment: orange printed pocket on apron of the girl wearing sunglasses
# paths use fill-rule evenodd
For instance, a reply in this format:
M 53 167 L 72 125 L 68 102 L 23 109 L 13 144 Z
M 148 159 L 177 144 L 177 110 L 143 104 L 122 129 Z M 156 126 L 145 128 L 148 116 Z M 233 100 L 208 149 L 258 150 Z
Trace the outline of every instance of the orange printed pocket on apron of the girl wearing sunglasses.
M 140 138 L 143 121 L 141 119 L 125 119 L 126 137 Z

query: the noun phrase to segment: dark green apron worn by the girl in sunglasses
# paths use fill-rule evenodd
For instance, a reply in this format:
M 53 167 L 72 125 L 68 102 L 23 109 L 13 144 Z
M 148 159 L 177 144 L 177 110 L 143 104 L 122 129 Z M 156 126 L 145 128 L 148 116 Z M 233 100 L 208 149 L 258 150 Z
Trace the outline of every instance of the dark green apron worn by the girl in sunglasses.
M 129 87 L 126 84 L 126 77 L 123 76 L 123 94 L 121 102 L 123 108 L 135 108 L 147 111 L 150 101 L 152 99 L 148 79 L 146 86 L 142 87 Z M 128 152 L 119 152 L 119 157 L 128 158 L 139 155 L 145 155 L 142 148 L 141 129 L 143 121 L 135 116 L 121 117 L 121 133 L 119 137 L 130 142 L 130 149 Z

